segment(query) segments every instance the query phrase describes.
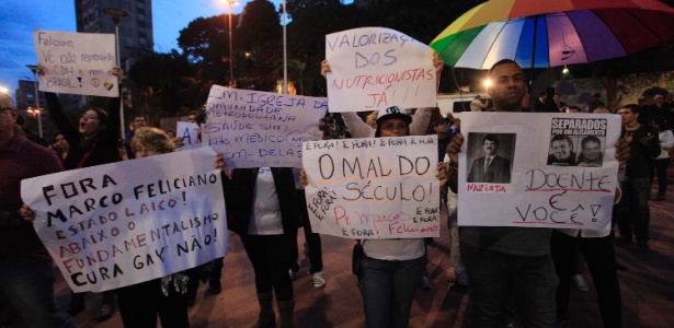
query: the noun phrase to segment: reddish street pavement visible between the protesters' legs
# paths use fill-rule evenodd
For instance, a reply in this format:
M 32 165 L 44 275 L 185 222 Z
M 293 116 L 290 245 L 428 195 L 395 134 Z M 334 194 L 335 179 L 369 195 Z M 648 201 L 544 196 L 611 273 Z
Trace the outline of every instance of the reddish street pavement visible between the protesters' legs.
M 670 177 L 674 177 L 670 167 Z M 654 184 L 656 185 L 656 184 Z M 655 189 L 653 189 L 655 191 Z M 633 245 L 618 247 L 618 271 L 622 294 L 624 327 L 674 327 L 674 185 L 670 184 L 665 201 L 651 201 L 650 251 Z M 449 231 L 446 218 L 438 238 L 429 246 L 430 291 L 419 290 L 412 306 L 410 327 L 462 327 L 468 303 L 468 289 L 454 285 L 449 261 Z M 322 236 L 324 289 L 317 290 L 307 273 L 308 258 L 301 254 L 304 234 L 299 233 L 300 272 L 294 281 L 296 327 L 363 327 L 363 303 L 351 273 L 353 241 Z M 58 271 L 56 295 L 60 305 L 68 303 L 70 292 Z M 572 290 L 569 309 L 570 327 L 601 327 L 596 292 L 587 268 L 584 277 L 589 292 Z M 230 234 L 229 254 L 222 269 L 222 292 L 208 294 L 201 284 L 196 304 L 190 308 L 191 325 L 201 327 L 251 327 L 258 316 L 254 277 L 239 237 Z M 76 317 L 80 327 L 122 327 L 119 314 L 98 323 L 95 315 L 101 296 L 87 296 L 87 311 Z

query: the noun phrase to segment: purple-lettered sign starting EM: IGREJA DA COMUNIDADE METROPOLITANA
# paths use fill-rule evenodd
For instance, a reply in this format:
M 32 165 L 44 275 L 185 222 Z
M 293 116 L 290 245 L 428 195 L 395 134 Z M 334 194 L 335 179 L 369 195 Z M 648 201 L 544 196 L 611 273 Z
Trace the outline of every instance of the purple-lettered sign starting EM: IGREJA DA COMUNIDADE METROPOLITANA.
M 213 85 L 202 140 L 227 168 L 301 167 L 301 143 L 321 139 L 327 106 L 325 98 Z

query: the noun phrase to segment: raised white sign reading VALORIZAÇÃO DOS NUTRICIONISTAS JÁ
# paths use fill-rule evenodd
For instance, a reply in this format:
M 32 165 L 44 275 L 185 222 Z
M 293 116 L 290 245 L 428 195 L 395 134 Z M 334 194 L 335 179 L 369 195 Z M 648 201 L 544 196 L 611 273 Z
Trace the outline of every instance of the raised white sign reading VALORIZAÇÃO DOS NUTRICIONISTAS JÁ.
M 398 31 L 362 27 L 325 35 L 330 112 L 435 107 L 433 50 Z

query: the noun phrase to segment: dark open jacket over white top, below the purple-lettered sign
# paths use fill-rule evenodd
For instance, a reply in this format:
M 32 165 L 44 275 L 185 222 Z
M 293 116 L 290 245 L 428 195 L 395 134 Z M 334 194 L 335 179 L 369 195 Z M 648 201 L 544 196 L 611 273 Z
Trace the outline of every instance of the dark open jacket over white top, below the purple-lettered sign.
M 274 176 L 276 195 L 278 195 L 284 235 L 290 236 L 293 242 L 296 243 L 299 211 L 293 171 L 289 167 L 272 167 L 271 169 L 272 176 Z M 228 227 L 242 237 L 248 235 L 259 171 L 259 167 L 237 168 L 231 178 L 222 174 Z

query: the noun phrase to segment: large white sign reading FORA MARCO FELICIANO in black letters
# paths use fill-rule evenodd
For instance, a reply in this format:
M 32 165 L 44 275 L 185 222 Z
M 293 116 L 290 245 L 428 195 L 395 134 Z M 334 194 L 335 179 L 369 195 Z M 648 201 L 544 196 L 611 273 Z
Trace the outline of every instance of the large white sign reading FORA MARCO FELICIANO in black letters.
M 209 148 L 25 179 L 21 197 L 73 292 L 130 285 L 227 254 Z

